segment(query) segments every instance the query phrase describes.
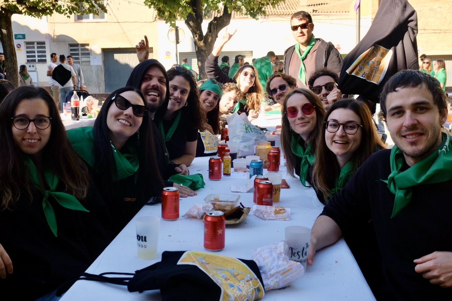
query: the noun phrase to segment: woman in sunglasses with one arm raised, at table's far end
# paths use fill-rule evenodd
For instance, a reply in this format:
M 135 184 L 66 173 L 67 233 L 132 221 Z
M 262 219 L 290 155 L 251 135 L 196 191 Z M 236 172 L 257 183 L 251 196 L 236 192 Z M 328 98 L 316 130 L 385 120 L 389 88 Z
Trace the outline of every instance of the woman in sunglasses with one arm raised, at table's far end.
M 222 38 L 218 39 L 218 46 L 213 48 L 204 66 L 208 77 L 222 84 L 237 83 L 245 98 L 239 100 L 232 113 L 246 113 L 248 120 L 251 121 L 259 117 L 260 104 L 262 99 L 264 99 L 264 89 L 259 82 L 256 69 L 251 65 L 243 65 L 235 72 L 235 75 L 231 79 L 218 66 L 218 57 L 220 56 L 221 49 L 232 38 L 234 33 L 235 31 L 232 33 L 228 32 L 226 28 L 226 33 Z

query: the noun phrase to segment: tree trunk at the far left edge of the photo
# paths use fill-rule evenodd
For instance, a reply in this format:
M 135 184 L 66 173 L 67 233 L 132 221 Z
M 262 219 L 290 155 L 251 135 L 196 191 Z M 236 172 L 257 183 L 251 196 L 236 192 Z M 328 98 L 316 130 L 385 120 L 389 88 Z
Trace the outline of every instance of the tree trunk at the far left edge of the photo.
M 17 87 L 19 71 L 17 69 L 16 48 L 13 40 L 12 15 L 13 13 L 9 10 L 0 10 L 0 41 L 5 55 L 6 77 L 13 83 L 14 87 Z M 25 47 L 23 51 L 25 51 Z

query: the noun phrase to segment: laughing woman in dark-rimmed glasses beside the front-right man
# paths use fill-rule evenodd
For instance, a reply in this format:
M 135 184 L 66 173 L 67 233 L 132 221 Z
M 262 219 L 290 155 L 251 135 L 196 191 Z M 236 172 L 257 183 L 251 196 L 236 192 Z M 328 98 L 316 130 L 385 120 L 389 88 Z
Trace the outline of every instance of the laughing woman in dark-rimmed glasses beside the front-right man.
M 354 99 L 335 102 L 325 115 L 315 151 L 312 182 L 320 202 L 326 203 L 367 158 L 386 148 L 366 103 Z

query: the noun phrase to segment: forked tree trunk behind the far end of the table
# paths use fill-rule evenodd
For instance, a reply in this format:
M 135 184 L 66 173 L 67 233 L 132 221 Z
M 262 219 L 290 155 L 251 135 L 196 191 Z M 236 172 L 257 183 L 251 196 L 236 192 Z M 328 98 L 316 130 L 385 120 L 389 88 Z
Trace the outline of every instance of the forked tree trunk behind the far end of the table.
M 202 1 L 193 0 L 191 2 L 194 14 L 188 14 L 185 19 L 185 24 L 192 32 L 193 42 L 195 43 L 196 58 L 198 59 L 199 79 L 207 79 L 204 63 L 207 56 L 212 53 L 213 45 L 218 38 L 218 33 L 231 22 L 231 13 L 227 6 L 224 6 L 223 14 L 220 17 L 215 17 L 209 22 L 207 32 L 204 35 L 202 32 Z

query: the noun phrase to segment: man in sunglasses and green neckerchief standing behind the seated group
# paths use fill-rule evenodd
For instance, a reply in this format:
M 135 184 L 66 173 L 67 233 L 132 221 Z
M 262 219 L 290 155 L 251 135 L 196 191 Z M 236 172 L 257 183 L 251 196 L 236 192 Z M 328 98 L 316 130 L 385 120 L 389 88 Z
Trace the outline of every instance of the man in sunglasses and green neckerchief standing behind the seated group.
M 298 11 L 292 14 L 290 25 L 297 43 L 284 52 L 284 71 L 297 79 L 297 87 L 307 88 L 311 74 L 322 68 L 339 74 L 342 56 L 331 42 L 314 37 L 311 15 L 303 10 Z

